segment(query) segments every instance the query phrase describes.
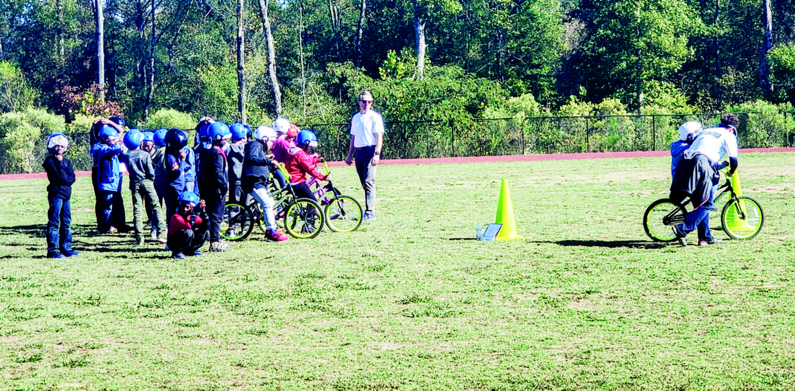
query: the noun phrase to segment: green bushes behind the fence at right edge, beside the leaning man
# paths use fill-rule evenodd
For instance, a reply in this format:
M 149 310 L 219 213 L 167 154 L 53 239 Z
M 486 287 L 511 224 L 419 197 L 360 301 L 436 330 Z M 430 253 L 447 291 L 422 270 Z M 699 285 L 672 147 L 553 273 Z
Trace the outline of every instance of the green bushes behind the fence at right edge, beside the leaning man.
M 791 143 L 795 134 L 793 105 L 774 105 L 765 101 L 743 103 L 728 108 L 730 113 L 748 113 L 740 116 L 737 143 L 740 148 L 770 148 Z M 789 112 L 789 114 L 785 114 Z

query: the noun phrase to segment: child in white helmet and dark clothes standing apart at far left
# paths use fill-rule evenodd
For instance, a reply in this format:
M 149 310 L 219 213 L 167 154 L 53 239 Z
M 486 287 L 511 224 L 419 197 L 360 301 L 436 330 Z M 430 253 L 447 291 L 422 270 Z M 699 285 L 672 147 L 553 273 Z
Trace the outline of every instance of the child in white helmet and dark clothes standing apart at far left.
M 69 141 L 61 133 L 47 139 L 47 151 L 42 166 L 47 171 L 47 258 L 65 258 L 80 255 L 72 250 L 72 184 L 75 183 L 75 168 L 64 157 Z

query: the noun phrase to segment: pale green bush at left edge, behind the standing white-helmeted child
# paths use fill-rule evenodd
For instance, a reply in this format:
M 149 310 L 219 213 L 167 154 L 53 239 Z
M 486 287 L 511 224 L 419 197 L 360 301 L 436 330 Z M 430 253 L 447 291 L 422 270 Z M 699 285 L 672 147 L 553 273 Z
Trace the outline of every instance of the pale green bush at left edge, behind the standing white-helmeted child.
M 40 172 L 46 136 L 64 132 L 64 121 L 43 109 L 0 114 L 0 173 Z

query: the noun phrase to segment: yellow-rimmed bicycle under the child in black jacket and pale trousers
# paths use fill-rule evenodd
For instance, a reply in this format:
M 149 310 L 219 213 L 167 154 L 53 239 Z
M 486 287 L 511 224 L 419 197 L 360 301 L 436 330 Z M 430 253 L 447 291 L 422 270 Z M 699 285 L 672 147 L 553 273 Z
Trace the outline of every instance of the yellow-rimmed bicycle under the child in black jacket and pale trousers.
M 279 169 L 286 173 L 284 166 L 280 166 Z M 273 184 L 273 181 L 270 182 Z M 277 226 L 290 236 L 296 239 L 312 239 L 320 234 L 324 213 L 316 201 L 296 198 L 290 186 L 274 190 L 273 200 L 273 214 Z M 244 240 L 254 230 L 254 225 L 257 225 L 262 233 L 266 232 L 265 214 L 254 198 L 250 198 L 245 205 L 227 203 L 224 207 L 221 225 L 223 238 Z

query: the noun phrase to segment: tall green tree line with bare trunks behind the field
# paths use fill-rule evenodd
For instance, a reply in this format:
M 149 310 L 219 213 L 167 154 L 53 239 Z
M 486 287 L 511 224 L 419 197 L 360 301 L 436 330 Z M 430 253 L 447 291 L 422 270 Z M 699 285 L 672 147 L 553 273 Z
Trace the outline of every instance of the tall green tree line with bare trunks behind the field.
M 308 126 L 348 121 L 366 89 L 387 121 L 453 129 L 517 115 L 786 113 L 792 10 L 795 0 L 6 0 L 0 110 Z

